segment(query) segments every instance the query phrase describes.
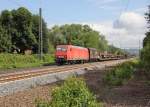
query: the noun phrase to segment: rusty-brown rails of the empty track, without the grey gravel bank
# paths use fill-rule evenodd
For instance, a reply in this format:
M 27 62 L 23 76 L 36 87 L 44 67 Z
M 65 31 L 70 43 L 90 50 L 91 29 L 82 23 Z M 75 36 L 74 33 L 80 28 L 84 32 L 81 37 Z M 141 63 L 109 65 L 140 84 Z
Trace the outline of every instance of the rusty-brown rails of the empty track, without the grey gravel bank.
M 29 70 L 29 71 L 23 71 L 23 72 L 1 74 L 0 84 L 11 82 L 11 81 L 16 81 L 16 80 L 21 80 L 21 79 L 32 78 L 32 77 L 41 76 L 41 75 L 46 75 L 50 73 L 65 72 L 65 71 L 83 69 L 83 68 L 91 68 L 91 67 L 94 67 L 96 64 L 110 65 L 112 62 L 113 61 L 105 61 L 105 62 L 95 62 L 95 63 L 86 63 L 86 64 L 78 64 L 78 65 L 53 66 L 50 68 L 43 68 L 39 70 Z

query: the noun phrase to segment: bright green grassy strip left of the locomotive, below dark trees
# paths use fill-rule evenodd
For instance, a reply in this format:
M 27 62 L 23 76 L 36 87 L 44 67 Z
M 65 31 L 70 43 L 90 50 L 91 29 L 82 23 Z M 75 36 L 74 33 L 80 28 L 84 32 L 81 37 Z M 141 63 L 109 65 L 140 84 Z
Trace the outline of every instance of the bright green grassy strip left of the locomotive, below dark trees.
M 49 54 L 44 55 L 43 60 L 39 60 L 38 55 L 0 54 L 0 69 L 36 67 L 53 62 L 54 56 Z

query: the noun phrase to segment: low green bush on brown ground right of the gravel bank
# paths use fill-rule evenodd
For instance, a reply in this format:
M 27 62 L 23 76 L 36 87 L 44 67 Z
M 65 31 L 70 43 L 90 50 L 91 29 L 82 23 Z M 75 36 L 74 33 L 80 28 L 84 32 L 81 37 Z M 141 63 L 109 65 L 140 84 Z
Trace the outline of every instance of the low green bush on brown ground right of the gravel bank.
M 122 85 L 133 76 L 134 68 L 137 64 L 137 61 L 131 61 L 116 66 L 106 73 L 104 77 L 105 83 L 110 86 Z

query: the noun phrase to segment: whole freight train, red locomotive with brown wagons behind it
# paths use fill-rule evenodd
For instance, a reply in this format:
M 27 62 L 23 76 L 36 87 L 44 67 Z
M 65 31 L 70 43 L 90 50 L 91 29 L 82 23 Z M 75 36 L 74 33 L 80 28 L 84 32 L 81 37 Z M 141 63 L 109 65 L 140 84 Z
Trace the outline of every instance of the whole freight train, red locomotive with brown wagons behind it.
M 55 52 L 55 61 L 59 65 L 65 63 L 86 63 L 122 58 L 125 58 L 125 55 L 114 55 L 107 52 L 100 52 L 95 48 L 84 48 L 73 45 L 58 45 Z

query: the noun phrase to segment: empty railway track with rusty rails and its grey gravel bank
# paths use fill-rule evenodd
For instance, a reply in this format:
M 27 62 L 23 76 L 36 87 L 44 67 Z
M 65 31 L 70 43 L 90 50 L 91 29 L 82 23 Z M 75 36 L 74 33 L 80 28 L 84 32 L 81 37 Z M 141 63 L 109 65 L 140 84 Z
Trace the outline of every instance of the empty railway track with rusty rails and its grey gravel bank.
M 64 80 L 72 75 L 82 75 L 87 70 L 103 69 L 109 66 L 115 66 L 131 59 L 112 60 L 104 62 L 94 62 L 85 64 L 50 66 L 40 69 L 30 69 L 25 71 L 16 71 L 0 75 L 0 96 L 9 95 L 18 91 L 23 91 L 38 85 L 46 85 L 60 80 Z

